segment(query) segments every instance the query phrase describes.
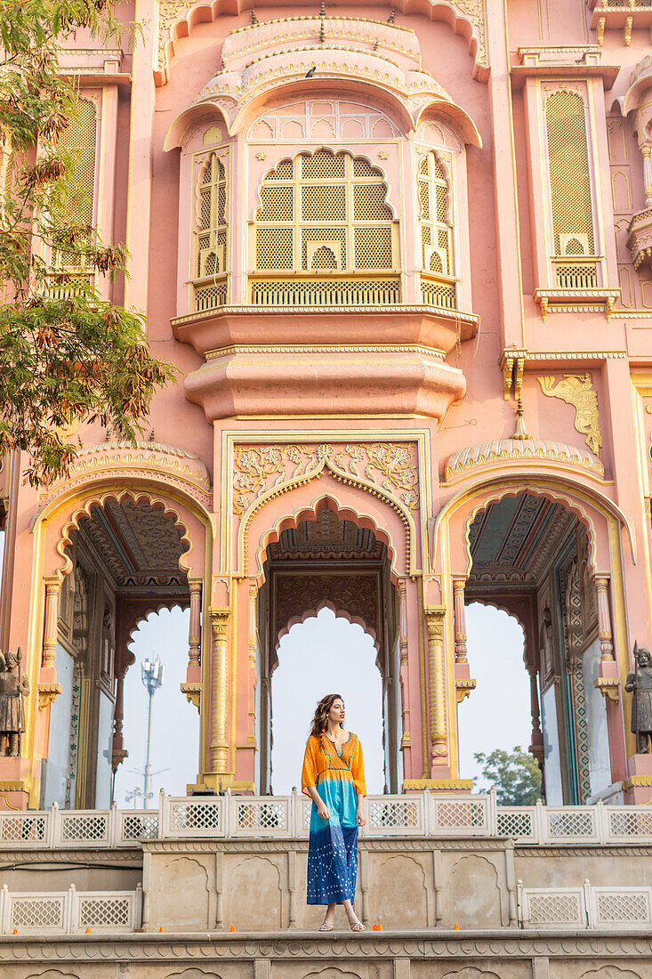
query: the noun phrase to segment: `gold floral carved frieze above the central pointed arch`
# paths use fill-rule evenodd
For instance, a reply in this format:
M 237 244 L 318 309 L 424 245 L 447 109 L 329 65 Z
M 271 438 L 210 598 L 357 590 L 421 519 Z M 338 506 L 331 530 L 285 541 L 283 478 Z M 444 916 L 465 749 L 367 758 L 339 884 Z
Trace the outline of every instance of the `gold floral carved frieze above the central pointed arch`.
M 242 515 L 269 490 L 317 476 L 324 468 L 384 489 L 408 510 L 419 509 L 416 443 L 272 443 L 235 446 L 233 512 Z

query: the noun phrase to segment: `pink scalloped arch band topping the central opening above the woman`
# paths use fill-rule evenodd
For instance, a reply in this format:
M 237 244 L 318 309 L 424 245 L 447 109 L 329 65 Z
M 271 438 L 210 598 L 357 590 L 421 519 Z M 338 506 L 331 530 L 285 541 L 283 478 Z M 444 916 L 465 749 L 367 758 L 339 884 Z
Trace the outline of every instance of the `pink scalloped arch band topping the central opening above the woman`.
M 329 473 L 329 475 L 333 474 Z M 378 499 L 380 505 L 372 503 L 371 507 L 365 506 L 364 509 L 361 507 L 358 509 L 353 505 L 353 499 L 345 502 L 339 500 L 332 491 L 326 490 L 319 492 L 316 496 L 296 500 L 295 509 L 288 512 L 287 503 L 281 497 L 286 494 L 295 498 L 299 494 L 305 496 L 305 489 L 309 488 L 312 479 L 283 487 L 276 493 L 265 494 L 255 500 L 244 514 L 239 531 L 239 554 L 247 574 L 262 582 L 264 579 L 265 552 L 268 544 L 276 543 L 283 531 L 296 529 L 303 520 L 314 520 L 322 509 L 331 509 L 337 513 L 339 520 L 350 520 L 358 527 L 372 531 L 377 540 L 386 544 L 393 583 L 396 583 L 402 575 L 409 574 L 411 532 L 414 530 L 414 521 L 396 500 L 382 490 L 374 488 L 376 491 L 373 496 Z M 352 478 L 346 482 L 349 483 L 350 495 L 361 497 L 355 502 L 366 502 L 363 496 L 363 494 L 366 495 L 365 488 Z M 381 519 L 381 508 L 384 509 L 385 506 L 388 506 L 388 510 L 384 513 L 387 519 L 383 520 Z M 372 514 L 371 511 L 373 510 L 378 512 Z M 250 553 L 249 546 L 252 537 L 257 538 L 256 552 L 253 554 Z

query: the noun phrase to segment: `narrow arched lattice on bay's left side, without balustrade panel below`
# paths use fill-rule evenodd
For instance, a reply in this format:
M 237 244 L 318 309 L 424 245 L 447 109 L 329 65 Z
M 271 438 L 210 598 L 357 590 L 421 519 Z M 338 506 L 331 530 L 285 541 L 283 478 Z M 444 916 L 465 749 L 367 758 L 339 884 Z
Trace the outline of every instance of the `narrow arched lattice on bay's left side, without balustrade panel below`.
M 195 275 L 202 279 L 223 273 L 227 261 L 226 169 L 215 153 L 200 174 L 197 194 Z

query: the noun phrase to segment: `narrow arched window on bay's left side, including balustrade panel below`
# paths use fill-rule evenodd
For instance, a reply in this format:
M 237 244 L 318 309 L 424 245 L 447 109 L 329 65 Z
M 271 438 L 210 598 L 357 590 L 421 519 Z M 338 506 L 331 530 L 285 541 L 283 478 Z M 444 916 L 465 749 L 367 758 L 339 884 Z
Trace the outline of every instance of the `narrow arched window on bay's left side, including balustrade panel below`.
M 226 170 L 211 153 L 200 173 L 195 232 L 195 303 L 198 310 L 226 303 Z

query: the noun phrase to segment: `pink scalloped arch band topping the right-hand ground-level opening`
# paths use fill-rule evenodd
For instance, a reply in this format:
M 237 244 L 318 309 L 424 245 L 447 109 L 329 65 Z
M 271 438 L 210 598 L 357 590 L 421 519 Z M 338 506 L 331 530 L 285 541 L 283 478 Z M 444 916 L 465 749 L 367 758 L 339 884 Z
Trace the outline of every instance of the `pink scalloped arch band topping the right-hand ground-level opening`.
M 584 486 L 571 480 L 549 477 L 541 471 L 533 471 L 532 482 L 525 474 L 514 477 L 495 477 L 480 479 L 466 489 L 457 492 L 443 507 L 437 517 L 433 534 L 433 558 L 441 560 L 442 526 L 448 525 L 451 552 L 451 570 L 454 574 L 468 576 L 472 558 L 469 530 L 477 514 L 486 509 L 489 503 L 497 502 L 504 496 L 518 496 L 530 492 L 561 503 L 574 513 L 586 528 L 588 536 L 588 561 L 594 574 L 607 574 L 611 567 L 609 550 L 610 521 L 615 521 L 621 531 L 625 530 L 631 551 L 632 562 L 636 563 L 636 550 L 633 531 L 623 511 L 599 490 Z M 460 526 L 461 525 L 461 526 Z M 600 533 L 597 533 L 597 530 Z

